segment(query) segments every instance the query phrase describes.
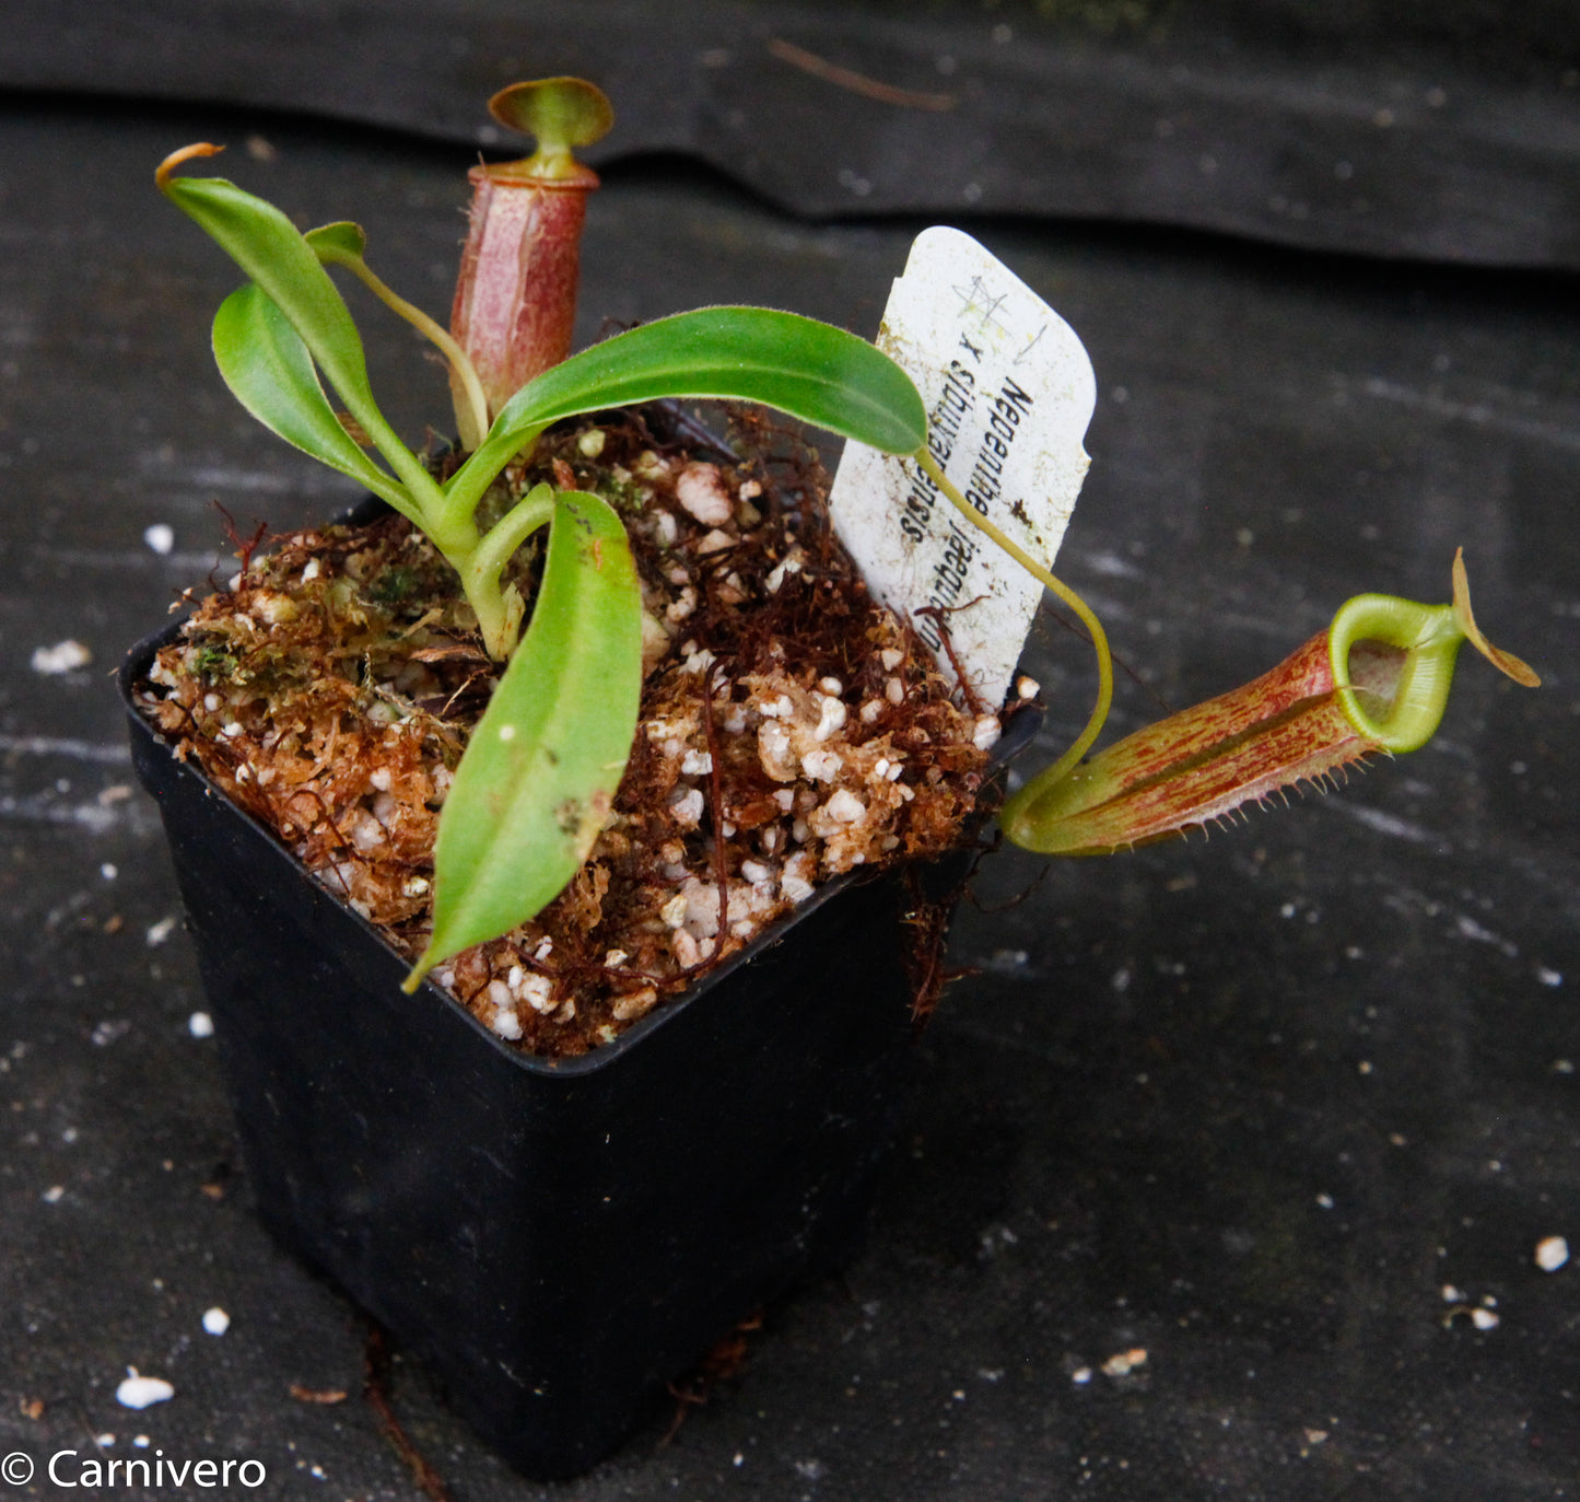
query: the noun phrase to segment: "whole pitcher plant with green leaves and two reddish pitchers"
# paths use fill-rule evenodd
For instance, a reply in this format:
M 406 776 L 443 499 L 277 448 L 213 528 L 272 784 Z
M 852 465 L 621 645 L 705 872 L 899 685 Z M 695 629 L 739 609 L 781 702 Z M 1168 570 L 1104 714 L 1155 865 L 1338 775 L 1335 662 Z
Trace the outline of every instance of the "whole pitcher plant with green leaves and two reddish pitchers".
M 1319 783 L 1367 756 L 1414 749 L 1443 716 L 1466 640 L 1517 681 L 1537 681 L 1476 626 L 1465 564 L 1455 558 L 1450 604 L 1357 596 L 1269 674 L 1089 757 L 1112 697 L 1103 626 L 1046 561 L 948 481 L 929 452 L 926 409 L 910 376 L 853 334 L 752 307 L 678 313 L 569 354 L 577 243 L 596 185 L 574 147 L 608 128 L 608 104 L 588 84 L 547 79 L 514 85 L 491 106 L 502 123 L 536 136 L 537 150 L 472 172 L 471 232 L 449 330 L 371 270 L 359 226 L 303 234 L 224 179 L 177 175 L 218 147 L 185 147 L 156 174 L 166 198 L 248 278 L 213 323 L 215 357 L 231 391 L 288 443 L 420 528 L 460 577 L 487 653 L 506 664 L 446 798 L 433 931 L 408 988 L 555 898 L 604 827 L 630 754 L 643 621 L 619 515 L 597 495 L 540 484 L 488 525 L 479 520 L 506 466 L 567 417 L 657 398 L 757 402 L 924 470 L 972 526 L 1079 617 L 1097 653 L 1098 691 L 1085 729 L 1000 813 L 1008 838 L 1032 851 L 1120 851 L 1223 819 L 1283 787 Z M 449 362 L 465 457 L 446 477 L 381 413 L 360 334 L 329 267 L 360 278 Z M 542 583 L 528 609 L 504 582 L 506 566 L 545 526 Z

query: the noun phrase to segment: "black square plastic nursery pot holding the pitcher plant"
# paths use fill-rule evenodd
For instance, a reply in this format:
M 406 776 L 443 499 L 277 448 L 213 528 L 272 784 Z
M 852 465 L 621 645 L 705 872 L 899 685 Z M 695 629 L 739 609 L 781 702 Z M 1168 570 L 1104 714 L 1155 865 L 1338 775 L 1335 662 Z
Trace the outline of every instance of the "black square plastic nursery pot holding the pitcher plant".
M 259 1214 L 512 1464 L 586 1470 L 860 1244 L 912 1066 L 905 876 L 831 882 L 615 1042 L 532 1058 L 404 994 L 406 960 L 172 756 L 131 691 L 177 629 L 120 689 Z M 935 893 L 964 866 L 929 868 Z

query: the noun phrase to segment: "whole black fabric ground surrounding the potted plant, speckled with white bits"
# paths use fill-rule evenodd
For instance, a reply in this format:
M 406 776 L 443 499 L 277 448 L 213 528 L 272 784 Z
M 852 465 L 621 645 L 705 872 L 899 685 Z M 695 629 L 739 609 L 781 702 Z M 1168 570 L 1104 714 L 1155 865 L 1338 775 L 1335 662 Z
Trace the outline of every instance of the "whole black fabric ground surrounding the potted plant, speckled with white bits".
M 871 334 L 939 220 L 1081 332 L 1060 571 L 1141 680 L 1115 729 L 1359 590 L 1446 598 L 1460 544 L 1547 681 L 1466 659 L 1428 749 L 1207 840 L 994 857 L 845 1277 L 769 1309 L 672 1445 L 659 1413 L 583 1481 L 512 1477 L 398 1357 L 419 1447 L 461 1502 L 1572 1497 L 1580 1270 L 1533 1252 L 1580 1251 L 1575 40 L 1571 5 L 1468 0 L 6 5 L 0 1458 L 112 1434 L 256 1456 L 270 1496 L 419 1496 L 354 1311 L 251 1216 L 106 677 L 232 568 L 216 501 L 250 531 L 352 498 L 224 392 L 234 272 L 152 171 L 228 141 L 229 175 L 357 218 L 442 311 L 482 98 L 574 70 L 619 111 L 580 342 L 735 300 Z M 356 307 L 398 427 L 446 424 Z M 35 672 L 63 639 L 92 662 Z M 1089 656 L 1049 615 L 1025 666 L 1052 754 Z M 175 1398 L 118 1407 L 126 1366 Z

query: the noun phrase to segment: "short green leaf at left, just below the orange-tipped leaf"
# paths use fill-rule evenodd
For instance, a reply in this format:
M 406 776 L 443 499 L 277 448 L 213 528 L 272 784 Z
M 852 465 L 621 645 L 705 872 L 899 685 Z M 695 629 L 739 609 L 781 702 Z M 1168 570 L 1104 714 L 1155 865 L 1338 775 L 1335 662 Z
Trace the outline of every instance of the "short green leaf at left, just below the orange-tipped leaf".
M 411 515 L 411 498 L 340 425 L 302 335 L 256 283 L 220 304 L 213 357 L 235 400 L 264 427 Z

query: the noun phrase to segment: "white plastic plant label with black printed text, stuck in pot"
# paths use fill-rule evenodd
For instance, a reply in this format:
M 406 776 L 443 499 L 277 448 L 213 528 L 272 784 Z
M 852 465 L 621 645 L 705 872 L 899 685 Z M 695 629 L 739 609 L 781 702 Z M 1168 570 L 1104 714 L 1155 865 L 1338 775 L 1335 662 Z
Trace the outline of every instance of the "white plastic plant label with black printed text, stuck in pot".
M 912 245 L 877 345 L 921 391 L 943 473 L 1051 568 L 1092 463 L 1082 440 L 1097 405 L 1070 324 L 970 236 L 934 228 Z M 830 508 L 874 594 L 997 708 L 1043 587 L 913 459 L 847 443 Z

